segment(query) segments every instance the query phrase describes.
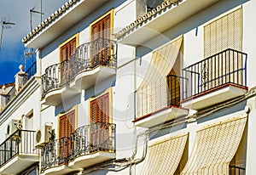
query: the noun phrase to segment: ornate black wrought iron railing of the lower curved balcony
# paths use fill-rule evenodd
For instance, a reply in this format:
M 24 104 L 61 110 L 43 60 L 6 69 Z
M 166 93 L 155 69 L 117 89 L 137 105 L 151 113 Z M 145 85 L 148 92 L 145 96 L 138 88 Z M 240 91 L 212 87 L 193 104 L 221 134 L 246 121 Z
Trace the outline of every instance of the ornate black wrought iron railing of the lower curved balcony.
M 41 150 L 41 171 L 98 151 L 115 152 L 115 124 L 96 122 L 77 128 L 69 138 L 50 140 Z

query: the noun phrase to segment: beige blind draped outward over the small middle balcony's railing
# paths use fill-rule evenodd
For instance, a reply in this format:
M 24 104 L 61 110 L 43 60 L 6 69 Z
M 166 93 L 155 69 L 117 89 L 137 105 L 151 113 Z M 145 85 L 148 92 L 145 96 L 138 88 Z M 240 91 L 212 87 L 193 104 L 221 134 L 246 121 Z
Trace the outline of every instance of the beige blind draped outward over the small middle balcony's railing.
M 145 116 L 167 106 L 166 76 L 172 70 L 182 42 L 183 37 L 179 37 L 153 52 L 148 71 L 137 89 L 137 116 Z

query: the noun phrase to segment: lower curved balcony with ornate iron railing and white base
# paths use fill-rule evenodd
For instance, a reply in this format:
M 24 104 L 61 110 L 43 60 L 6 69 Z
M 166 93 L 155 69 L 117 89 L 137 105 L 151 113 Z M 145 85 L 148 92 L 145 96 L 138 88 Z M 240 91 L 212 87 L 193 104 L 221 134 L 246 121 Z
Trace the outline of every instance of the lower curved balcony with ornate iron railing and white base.
M 41 151 L 41 173 L 60 174 L 115 158 L 115 124 L 79 127 L 70 138 L 51 140 Z

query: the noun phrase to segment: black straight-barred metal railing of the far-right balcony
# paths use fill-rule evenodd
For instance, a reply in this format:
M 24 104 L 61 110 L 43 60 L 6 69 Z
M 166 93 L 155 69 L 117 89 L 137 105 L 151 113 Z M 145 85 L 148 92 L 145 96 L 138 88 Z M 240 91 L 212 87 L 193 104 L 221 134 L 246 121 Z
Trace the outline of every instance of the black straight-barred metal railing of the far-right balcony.
M 183 99 L 224 84 L 247 86 L 247 54 L 228 48 L 183 69 Z

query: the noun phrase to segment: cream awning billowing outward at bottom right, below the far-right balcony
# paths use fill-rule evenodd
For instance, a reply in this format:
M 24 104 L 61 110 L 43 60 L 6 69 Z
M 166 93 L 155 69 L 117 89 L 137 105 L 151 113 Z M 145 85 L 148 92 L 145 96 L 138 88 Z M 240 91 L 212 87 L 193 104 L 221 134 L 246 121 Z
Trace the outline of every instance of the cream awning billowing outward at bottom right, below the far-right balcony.
M 181 174 L 229 174 L 246 122 L 247 116 L 241 116 L 197 131 L 192 154 Z

